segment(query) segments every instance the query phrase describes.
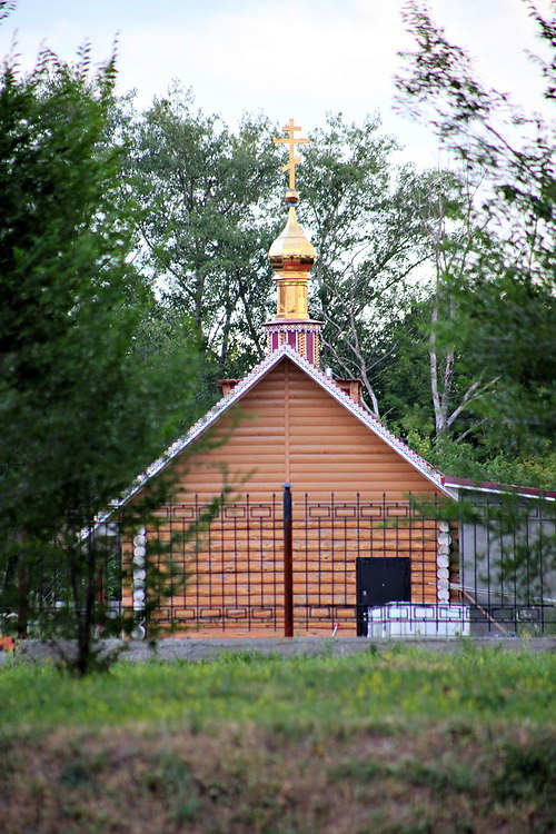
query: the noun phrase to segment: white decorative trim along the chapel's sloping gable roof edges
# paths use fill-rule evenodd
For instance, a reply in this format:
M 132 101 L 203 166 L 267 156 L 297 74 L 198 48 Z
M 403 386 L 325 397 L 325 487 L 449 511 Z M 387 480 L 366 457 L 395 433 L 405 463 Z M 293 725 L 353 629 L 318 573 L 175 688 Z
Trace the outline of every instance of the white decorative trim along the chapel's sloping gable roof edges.
M 288 358 L 294 365 L 300 370 L 307 374 L 320 388 L 326 390 L 334 399 L 336 399 L 344 408 L 347 408 L 354 417 L 363 423 L 370 431 L 383 439 L 391 449 L 394 449 L 400 457 L 409 463 L 415 469 L 430 480 L 439 492 L 455 497 L 454 494 L 444 484 L 443 475 L 434 466 L 428 464 L 420 455 L 410 449 L 406 444 L 400 440 L 396 435 L 389 431 L 370 411 L 364 406 L 351 399 L 349 395 L 345 394 L 335 381 L 327 377 L 319 368 L 316 368 L 307 359 L 300 356 L 289 345 L 282 345 L 275 350 L 272 354 L 262 359 L 256 365 L 252 370 L 247 374 L 236 387 L 224 396 L 216 405 L 212 406 L 191 428 L 177 440 L 175 440 L 166 451 L 151 464 L 141 475 L 139 475 L 130 488 L 122 495 L 122 497 L 115 502 L 111 509 L 99 520 L 106 519 L 113 509 L 123 504 L 127 504 L 142 487 L 156 475 L 161 473 L 183 449 L 190 446 L 198 437 L 208 431 L 215 423 L 232 406 L 235 406 L 241 397 L 254 388 L 267 374 L 272 370 L 282 359 Z

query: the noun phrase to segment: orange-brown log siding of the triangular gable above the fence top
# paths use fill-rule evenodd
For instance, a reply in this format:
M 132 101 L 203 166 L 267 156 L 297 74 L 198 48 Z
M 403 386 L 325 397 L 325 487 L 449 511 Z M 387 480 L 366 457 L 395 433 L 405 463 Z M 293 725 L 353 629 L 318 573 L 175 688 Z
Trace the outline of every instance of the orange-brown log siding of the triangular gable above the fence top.
M 186 460 L 177 499 L 212 496 L 222 485 L 222 465 L 237 494 L 268 500 L 291 481 L 294 495 L 315 500 L 331 492 L 338 500 L 359 493 L 364 500 L 399 500 L 435 486 L 373 434 L 299 368 L 285 359 L 240 401 L 234 418 L 214 437 L 228 439 Z

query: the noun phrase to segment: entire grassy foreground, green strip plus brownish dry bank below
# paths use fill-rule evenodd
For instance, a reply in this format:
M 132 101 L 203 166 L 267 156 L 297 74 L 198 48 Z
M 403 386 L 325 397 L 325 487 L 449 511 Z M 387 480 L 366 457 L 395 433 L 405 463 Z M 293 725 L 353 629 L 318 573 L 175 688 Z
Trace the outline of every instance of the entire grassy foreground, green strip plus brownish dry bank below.
M 0 830 L 553 832 L 556 655 L 0 668 Z M 3 828 L 2 828 L 3 824 Z

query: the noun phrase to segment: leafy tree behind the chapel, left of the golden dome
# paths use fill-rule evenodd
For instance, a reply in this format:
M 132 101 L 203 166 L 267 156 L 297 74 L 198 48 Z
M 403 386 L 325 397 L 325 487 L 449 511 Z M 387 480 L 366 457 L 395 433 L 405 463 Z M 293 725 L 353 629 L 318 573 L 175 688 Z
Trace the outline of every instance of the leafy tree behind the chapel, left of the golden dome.
M 234 133 L 175 87 L 123 123 L 145 208 L 140 261 L 163 302 L 191 317 L 207 370 L 212 361 L 218 375 L 245 373 L 265 355 L 271 287 L 265 256 L 279 161 L 268 120 L 246 117 Z

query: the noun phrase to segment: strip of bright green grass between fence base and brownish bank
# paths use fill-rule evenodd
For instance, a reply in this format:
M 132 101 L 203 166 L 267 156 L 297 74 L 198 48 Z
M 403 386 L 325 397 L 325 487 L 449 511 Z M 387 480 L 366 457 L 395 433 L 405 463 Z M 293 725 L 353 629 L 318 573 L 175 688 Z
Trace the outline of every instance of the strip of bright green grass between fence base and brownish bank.
M 556 655 L 403 649 L 349 658 L 225 656 L 210 663 L 119 663 L 85 681 L 50 665 L 0 668 L 0 727 L 127 722 L 335 724 L 366 718 L 555 717 Z

